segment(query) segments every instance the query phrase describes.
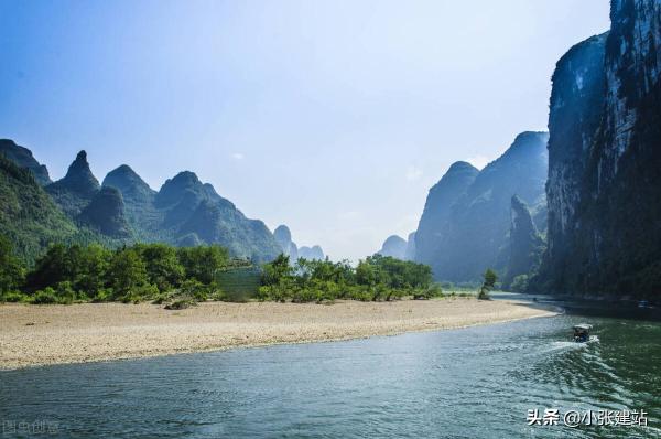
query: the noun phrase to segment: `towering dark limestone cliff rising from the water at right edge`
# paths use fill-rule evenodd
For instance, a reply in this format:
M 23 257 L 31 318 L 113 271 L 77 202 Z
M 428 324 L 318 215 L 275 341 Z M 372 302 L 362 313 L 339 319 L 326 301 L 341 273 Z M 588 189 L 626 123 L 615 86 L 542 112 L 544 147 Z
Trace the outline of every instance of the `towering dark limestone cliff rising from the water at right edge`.
M 549 251 L 531 288 L 661 290 L 661 2 L 613 0 L 610 19 L 554 74 Z

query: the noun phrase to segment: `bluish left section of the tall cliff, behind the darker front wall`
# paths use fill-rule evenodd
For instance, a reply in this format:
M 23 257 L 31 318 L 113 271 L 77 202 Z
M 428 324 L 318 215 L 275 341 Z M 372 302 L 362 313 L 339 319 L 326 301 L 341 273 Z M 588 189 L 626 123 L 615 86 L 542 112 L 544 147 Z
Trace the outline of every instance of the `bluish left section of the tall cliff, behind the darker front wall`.
M 553 270 L 565 272 L 575 251 L 576 210 L 589 149 L 602 120 L 607 33 L 572 47 L 553 74 L 549 115 L 549 249 Z M 568 276 L 568 272 L 566 274 Z M 564 275 L 563 275 L 564 276 Z

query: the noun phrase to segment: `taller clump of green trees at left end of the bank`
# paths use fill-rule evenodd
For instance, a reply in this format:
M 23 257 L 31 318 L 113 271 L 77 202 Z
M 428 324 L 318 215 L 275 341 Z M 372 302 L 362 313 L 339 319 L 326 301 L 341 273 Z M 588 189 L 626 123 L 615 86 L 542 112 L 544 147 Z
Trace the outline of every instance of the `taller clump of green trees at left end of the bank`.
M 0 261 L 6 263 L 0 266 L 2 299 L 33 303 L 139 302 L 182 291 L 199 300 L 220 298 L 216 274 L 250 265 L 231 259 L 220 246 L 137 244 L 110 250 L 96 244 L 56 244 L 28 269 L 12 256 L 7 239 L 0 239 Z

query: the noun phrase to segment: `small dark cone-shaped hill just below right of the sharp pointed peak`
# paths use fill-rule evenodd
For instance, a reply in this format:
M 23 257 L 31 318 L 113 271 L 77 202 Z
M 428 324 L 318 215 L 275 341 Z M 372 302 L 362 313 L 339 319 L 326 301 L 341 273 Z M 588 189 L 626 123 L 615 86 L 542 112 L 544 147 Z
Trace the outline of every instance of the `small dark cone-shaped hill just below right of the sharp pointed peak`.
M 100 233 L 115 238 L 127 238 L 131 231 L 124 217 L 124 204 L 116 188 L 101 188 L 83 210 L 78 220 Z

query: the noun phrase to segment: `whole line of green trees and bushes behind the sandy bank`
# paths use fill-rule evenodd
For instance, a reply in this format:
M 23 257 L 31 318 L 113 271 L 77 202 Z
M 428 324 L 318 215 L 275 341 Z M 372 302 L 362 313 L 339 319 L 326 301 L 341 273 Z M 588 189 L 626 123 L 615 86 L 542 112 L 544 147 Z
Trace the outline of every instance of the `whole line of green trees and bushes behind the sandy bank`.
M 321 302 L 335 299 L 392 300 L 403 296 L 441 295 L 432 285 L 429 266 L 391 257 L 372 256 L 357 267 L 348 263 L 299 259 L 291 265 L 280 255 L 261 271 L 243 270 L 247 260 L 229 257 L 214 246 L 172 247 L 138 244 L 116 250 L 100 245 L 53 245 L 32 268 L 12 254 L 0 236 L 0 301 L 72 303 L 76 301 L 159 303 L 172 301 L 278 300 Z M 252 295 L 224 290 L 219 274 L 234 269 L 254 277 Z M 241 276 L 238 281 L 241 282 Z M 252 280 L 247 279 L 246 283 Z M 237 277 L 232 279 L 237 282 Z

